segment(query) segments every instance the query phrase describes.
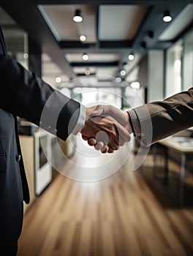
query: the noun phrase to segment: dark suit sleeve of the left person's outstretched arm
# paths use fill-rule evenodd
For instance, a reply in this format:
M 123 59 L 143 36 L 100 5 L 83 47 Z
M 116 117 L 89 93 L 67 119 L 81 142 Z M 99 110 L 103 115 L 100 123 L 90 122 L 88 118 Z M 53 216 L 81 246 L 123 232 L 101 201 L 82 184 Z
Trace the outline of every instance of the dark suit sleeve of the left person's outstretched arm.
M 67 139 L 77 123 L 78 102 L 54 90 L 10 56 L 0 55 L 0 76 L 0 108 Z

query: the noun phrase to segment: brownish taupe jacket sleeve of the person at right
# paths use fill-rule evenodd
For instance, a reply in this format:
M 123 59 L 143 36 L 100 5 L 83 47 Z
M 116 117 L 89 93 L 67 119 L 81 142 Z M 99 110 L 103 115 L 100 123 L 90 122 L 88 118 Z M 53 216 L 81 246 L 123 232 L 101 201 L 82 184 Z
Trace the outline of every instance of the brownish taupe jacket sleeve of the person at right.
M 146 145 L 192 127 L 193 88 L 163 101 L 134 108 L 129 111 L 129 116 L 136 137 Z

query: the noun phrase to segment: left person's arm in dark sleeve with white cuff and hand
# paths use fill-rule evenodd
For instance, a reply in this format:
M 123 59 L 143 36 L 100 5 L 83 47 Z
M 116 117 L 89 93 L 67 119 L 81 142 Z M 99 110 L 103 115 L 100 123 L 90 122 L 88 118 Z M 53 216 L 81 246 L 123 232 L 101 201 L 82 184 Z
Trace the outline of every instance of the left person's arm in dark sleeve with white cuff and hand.
M 24 69 L 10 56 L 0 55 L 0 74 L 0 108 L 14 116 L 26 118 L 62 140 L 83 128 L 84 135 L 94 138 L 99 131 L 107 132 L 113 146 L 114 141 L 118 142 L 118 127 L 125 140 L 129 140 L 129 132 L 116 121 L 97 117 L 90 118 L 85 125 L 95 107 L 84 108 Z M 114 144 L 113 149 L 116 148 L 117 144 Z

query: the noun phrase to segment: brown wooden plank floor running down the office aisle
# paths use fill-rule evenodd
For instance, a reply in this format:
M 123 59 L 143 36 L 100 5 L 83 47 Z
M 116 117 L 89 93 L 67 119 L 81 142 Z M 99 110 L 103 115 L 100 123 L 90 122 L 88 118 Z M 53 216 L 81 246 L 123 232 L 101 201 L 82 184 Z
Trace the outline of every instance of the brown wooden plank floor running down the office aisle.
M 130 166 L 92 183 L 58 175 L 24 217 L 18 256 L 193 255 L 193 209 L 170 203 L 151 157 Z

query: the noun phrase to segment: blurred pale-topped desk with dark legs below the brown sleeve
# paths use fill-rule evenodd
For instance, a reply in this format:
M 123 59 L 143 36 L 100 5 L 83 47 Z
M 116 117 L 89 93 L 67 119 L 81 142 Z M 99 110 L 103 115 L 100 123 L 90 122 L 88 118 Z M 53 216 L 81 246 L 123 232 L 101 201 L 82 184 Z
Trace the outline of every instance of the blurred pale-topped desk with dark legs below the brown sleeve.
M 157 150 L 164 153 L 164 169 L 160 171 L 157 165 Z M 169 151 L 175 151 L 179 154 L 180 161 L 179 172 L 169 168 Z M 153 146 L 154 152 L 154 178 L 162 184 L 168 195 L 175 199 L 179 206 L 193 206 L 193 170 L 186 165 L 186 160 L 193 159 L 193 138 L 170 137 L 159 140 Z

